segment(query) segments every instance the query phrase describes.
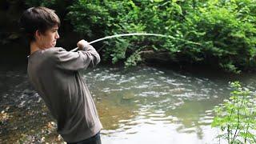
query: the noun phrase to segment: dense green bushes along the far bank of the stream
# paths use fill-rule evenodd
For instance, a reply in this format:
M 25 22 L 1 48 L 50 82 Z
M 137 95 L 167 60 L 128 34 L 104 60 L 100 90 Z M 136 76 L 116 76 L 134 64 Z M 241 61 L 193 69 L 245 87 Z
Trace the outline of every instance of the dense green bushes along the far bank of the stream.
M 26 6 L 48 6 L 65 14 L 70 27 L 91 40 L 134 32 L 174 37 L 104 41 L 103 58 L 113 63 L 134 66 L 153 51 L 155 57 L 165 53 L 172 62 L 206 64 L 235 73 L 256 66 L 256 0 L 26 0 Z

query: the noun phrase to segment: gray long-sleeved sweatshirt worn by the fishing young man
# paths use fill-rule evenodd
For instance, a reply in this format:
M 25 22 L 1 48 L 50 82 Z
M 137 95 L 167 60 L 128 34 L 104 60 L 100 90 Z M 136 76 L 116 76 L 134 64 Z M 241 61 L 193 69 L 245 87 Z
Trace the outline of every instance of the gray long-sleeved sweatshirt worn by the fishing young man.
M 61 47 L 38 50 L 28 59 L 30 82 L 57 120 L 66 142 L 90 138 L 102 129 L 94 101 L 79 70 L 95 66 L 100 57 L 93 46 L 69 52 Z

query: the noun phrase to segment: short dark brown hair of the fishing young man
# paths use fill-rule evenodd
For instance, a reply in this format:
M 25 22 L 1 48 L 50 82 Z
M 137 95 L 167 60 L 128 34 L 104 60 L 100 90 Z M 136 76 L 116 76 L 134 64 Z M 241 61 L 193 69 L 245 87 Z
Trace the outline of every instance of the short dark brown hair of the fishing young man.
M 54 13 L 54 10 L 42 6 L 30 7 L 23 12 L 20 18 L 22 30 L 28 36 L 30 42 L 35 40 L 34 34 L 36 30 L 44 34 L 46 30 L 49 30 L 56 24 L 60 26 L 60 23 L 58 15 Z

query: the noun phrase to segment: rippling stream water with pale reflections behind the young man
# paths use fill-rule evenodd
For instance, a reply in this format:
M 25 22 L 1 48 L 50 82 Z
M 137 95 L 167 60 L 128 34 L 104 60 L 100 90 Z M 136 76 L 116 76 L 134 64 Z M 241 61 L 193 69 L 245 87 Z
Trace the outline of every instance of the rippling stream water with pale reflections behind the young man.
M 82 72 L 104 129 L 102 143 L 218 143 L 214 106 L 230 93 L 226 78 L 152 67 L 98 67 Z M 0 72 L 0 142 L 62 142 L 26 70 Z M 255 75 L 239 77 L 254 90 Z M 21 140 L 22 138 L 29 138 Z

